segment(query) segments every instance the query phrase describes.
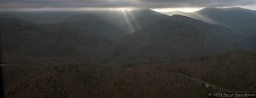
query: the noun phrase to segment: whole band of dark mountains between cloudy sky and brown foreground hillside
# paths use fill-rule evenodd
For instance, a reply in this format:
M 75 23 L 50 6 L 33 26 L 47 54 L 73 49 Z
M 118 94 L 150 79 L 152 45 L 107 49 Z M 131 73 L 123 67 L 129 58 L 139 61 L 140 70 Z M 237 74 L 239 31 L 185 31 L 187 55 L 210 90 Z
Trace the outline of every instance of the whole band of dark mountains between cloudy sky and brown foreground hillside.
M 62 16 L 61 22 L 51 24 L 26 22 L 15 15 L 6 15 L 4 17 L 18 19 L 0 20 L 4 25 L 1 27 L 2 45 L 5 51 L 38 57 L 86 58 L 88 61 L 106 61 L 107 58 L 168 60 L 254 48 L 252 35 L 255 35 L 253 24 L 256 22 L 246 24 L 256 18 L 253 11 L 204 8 L 197 14 L 204 14 L 221 24 L 209 24 L 182 15 L 167 16 L 148 9 L 68 14 Z M 53 16 L 57 19 L 59 15 Z M 114 20 L 121 17 L 122 21 Z M 136 30 L 134 33 L 128 34 L 131 32 L 129 24 Z

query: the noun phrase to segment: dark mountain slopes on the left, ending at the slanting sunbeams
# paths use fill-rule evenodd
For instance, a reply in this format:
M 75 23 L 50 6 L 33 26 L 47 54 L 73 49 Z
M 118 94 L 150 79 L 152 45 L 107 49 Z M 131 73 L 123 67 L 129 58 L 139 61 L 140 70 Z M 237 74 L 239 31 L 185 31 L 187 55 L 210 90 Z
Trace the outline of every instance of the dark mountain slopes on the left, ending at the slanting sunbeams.
M 95 16 L 91 18 L 68 19 L 64 23 L 49 25 L 1 19 L 2 50 L 35 57 L 71 57 L 91 61 L 99 59 L 97 57 L 109 57 L 109 48 L 115 45 L 111 40 L 125 31 Z

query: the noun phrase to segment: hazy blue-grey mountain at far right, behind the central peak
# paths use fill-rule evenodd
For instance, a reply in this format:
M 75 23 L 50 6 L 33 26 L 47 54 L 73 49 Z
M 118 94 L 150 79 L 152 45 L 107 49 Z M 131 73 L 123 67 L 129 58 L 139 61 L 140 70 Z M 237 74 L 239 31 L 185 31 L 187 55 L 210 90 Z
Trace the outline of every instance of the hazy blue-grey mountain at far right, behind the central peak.
M 165 14 L 180 14 L 212 24 L 221 24 L 247 36 L 255 35 L 256 13 L 246 8 L 203 8 L 194 13 L 169 12 Z

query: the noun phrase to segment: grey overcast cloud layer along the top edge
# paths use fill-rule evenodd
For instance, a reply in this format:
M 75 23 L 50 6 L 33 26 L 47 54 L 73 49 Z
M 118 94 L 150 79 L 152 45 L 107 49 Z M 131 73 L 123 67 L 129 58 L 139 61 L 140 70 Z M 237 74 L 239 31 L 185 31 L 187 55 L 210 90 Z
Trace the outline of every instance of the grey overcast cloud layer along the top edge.
M 256 0 L 0 0 L 0 8 L 202 8 L 245 6 Z

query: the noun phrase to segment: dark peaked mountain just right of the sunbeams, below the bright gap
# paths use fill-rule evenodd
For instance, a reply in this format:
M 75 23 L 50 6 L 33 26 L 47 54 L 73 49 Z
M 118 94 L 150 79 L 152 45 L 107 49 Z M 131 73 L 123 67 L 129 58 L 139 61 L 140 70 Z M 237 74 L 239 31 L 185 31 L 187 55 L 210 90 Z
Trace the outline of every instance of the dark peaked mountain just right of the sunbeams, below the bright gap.
M 217 31 L 218 30 L 218 31 Z M 131 51 L 124 60 L 152 61 L 200 57 L 241 49 L 231 39 L 239 38 L 227 28 L 173 15 L 121 38 Z M 230 36 L 229 36 L 230 35 Z

